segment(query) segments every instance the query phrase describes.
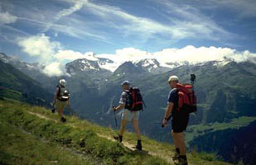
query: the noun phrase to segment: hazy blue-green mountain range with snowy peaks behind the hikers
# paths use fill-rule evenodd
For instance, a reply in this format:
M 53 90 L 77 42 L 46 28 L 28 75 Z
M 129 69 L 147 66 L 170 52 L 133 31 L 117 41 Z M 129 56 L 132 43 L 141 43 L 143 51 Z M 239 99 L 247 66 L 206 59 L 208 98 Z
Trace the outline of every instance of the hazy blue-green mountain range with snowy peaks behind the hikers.
M 207 143 L 216 143 L 212 137 L 216 134 L 225 134 L 228 130 L 225 125 L 236 126 L 236 129 L 229 130 L 230 134 L 236 134 L 239 140 L 243 137 L 244 130 L 247 134 L 256 134 L 255 127 L 250 123 L 256 120 L 256 64 L 250 61 L 234 62 L 229 59 L 221 61 L 209 61 L 205 63 L 190 64 L 168 63 L 160 64 L 157 59 L 142 59 L 140 61 L 126 61 L 115 66 L 114 72 L 107 66 L 114 66 L 111 59 L 76 59 L 65 65 L 67 75 L 61 77 L 48 77 L 41 73 L 40 64 L 27 64 L 16 61 L 5 54 L 0 54 L 2 64 L 12 65 L 12 68 L 19 70 L 25 76 L 31 77 L 32 82 L 40 80 L 40 84 L 46 92 L 53 93 L 59 78 L 67 80 L 70 88 L 71 106 L 80 115 L 100 125 L 112 125 L 114 127 L 114 116 L 111 111 L 113 105 L 118 105 L 122 92 L 120 83 L 129 80 L 133 86 L 139 87 L 147 108 L 141 112 L 140 129 L 143 134 L 161 140 L 170 141 L 168 129 L 161 129 L 161 121 L 167 106 L 167 94 L 170 88 L 167 84 L 169 75 L 177 75 L 181 82 L 190 82 L 190 74 L 196 74 L 195 91 L 198 99 L 198 112 L 191 114 L 186 144 L 196 145 L 202 150 L 217 152 L 230 162 L 237 163 L 244 160 L 244 163 L 253 163 L 255 158 L 255 143 L 248 139 L 246 145 L 230 144 L 228 149 L 220 151 L 220 145 L 200 146 L 200 140 L 210 140 Z M 167 65 L 169 67 L 167 67 Z M 7 71 L 4 71 L 7 72 Z M 1 65 L 2 73 L 2 65 Z M 24 77 L 24 76 L 23 76 Z M 24 82 L 27 83 L 27 82 Z M 3 84 L 3 83 L 2 83 Z M 1 86 L 2 86 L 1 84 Z M 21 90 L 20 88 L 16 88 Z M 250 120 L 243 120 L 248 117 Z M 235 122 L 234 122 L 235 121 Z M 201 125 L 210 125 L 210 129 Z M 193 129 L 195 128 L 196 129 Z M 220 130 L 219 128 L 225 128 Z M 131 127 L 128 127 L 130 130 Z M 206 138 L 207 137 L 207 138 Z M 211 137 L 211 138 L 209 138 Z M 232 136 L 220 136 L 217 143 L 223 144 L 232 141 Z M 233 152 L 233 149 L 250 151 L 244 153 Z M 230 159 L 229 153 L 234 153 Z

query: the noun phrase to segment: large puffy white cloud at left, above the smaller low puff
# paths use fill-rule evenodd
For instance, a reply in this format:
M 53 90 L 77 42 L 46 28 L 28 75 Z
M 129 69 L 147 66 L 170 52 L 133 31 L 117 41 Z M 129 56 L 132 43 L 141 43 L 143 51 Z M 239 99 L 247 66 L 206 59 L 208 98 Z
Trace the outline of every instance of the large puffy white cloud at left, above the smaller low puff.
M 50 37 L 44 34 L 19 39 L 17 44 L 22 47 L 23 52 L 31 56 L 39 56 L 43 60 L 52 58 L 56 50 L 60 49 L 59 42 L 51 41 Z

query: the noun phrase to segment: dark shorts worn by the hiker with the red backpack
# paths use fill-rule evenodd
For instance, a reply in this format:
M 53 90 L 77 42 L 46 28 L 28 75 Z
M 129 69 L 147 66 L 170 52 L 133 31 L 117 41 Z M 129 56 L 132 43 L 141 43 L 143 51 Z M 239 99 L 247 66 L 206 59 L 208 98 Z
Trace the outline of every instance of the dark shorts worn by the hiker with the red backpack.
M 188 120 L 190 118 L 189 113 L 179 111 L 172 114 L 171 126 L 174 133 L 180 133 L 186 130 Z

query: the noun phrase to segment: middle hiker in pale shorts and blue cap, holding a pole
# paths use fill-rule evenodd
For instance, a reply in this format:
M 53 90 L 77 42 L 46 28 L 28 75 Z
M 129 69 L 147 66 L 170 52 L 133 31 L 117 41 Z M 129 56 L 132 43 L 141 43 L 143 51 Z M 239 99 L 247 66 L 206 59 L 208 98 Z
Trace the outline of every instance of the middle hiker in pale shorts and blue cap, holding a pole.
M 130 87 L 130 82 L 124 81 L 122 82 L 121 85 L 123 88 L 123 92 L 121 94 L 119 106 L 113 106 L 113 111 L 115 113 L 118 110 L 123 110 L 122 117 L 121 117 L 122 120 L 121 120 L 120 132 L 118 135 L 114 135 L 114 139 L 122 143 L 125 126 L 128 121 L 131 121 L 138 139 L 137 145 L 135 146 L 135 148 L 137 148 L 138 150 L 142 150 L 141 133 L 138 128 L 139 111 L 142 111 L 142 102 L 143 102 L 142 96 L 137 87 Z M 116 116 L 115 116 L 115 122 L 116 122 Z

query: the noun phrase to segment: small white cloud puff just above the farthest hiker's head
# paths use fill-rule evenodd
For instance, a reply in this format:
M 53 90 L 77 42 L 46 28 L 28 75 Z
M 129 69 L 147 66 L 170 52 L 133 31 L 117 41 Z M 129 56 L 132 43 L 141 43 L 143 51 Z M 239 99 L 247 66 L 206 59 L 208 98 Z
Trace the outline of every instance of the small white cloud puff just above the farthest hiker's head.
M 65 74 L 65 67 L 59 62 L 53 62 L 47 64 L 42 72 L 46 73 L 48 76 L 61 76 Z

